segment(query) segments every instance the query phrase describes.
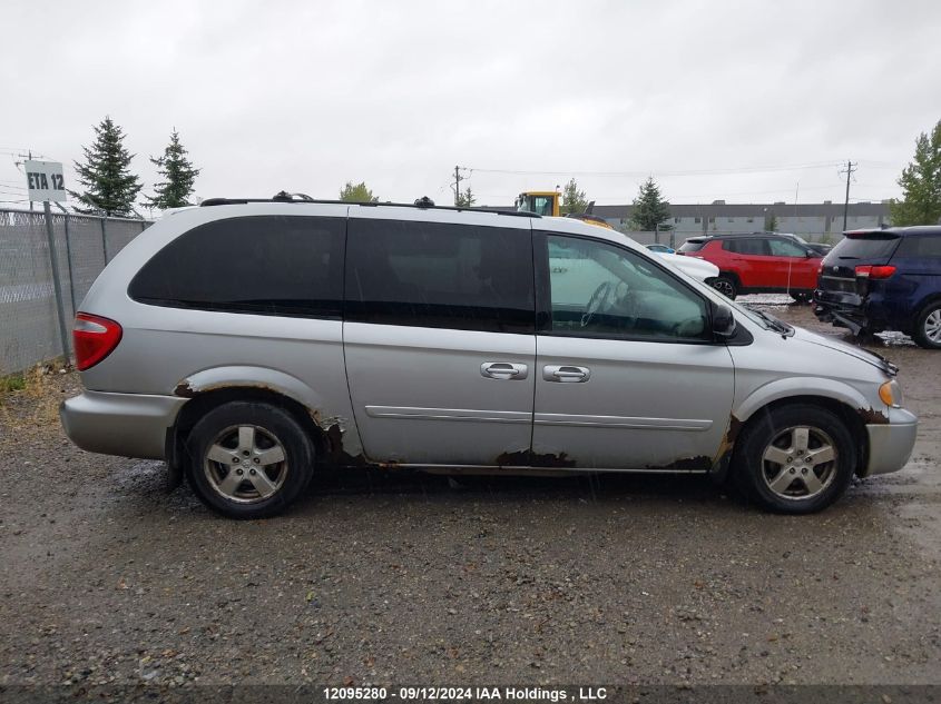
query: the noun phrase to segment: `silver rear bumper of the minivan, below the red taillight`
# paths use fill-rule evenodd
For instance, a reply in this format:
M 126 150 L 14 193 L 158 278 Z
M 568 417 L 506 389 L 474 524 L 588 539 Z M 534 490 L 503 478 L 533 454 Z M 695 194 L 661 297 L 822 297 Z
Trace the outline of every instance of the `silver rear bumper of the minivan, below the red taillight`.
M 175 396 L 86 390 L 62 401 L 59 417 L 66 435 L 82 449 L 165 459 L 167 430 L 185 403 Z

